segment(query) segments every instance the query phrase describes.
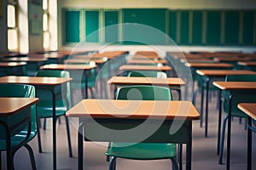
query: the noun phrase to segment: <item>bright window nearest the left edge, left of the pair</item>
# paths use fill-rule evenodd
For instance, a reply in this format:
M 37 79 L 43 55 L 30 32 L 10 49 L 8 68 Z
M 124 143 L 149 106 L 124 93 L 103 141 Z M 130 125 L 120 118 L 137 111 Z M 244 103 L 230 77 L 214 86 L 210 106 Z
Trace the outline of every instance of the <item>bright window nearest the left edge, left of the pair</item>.
M 18 3 L 12 1 L 7 5 L 7 27 L 8 27 L 8 50 L 18 51 L 18 26 L 17 11 Z

